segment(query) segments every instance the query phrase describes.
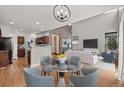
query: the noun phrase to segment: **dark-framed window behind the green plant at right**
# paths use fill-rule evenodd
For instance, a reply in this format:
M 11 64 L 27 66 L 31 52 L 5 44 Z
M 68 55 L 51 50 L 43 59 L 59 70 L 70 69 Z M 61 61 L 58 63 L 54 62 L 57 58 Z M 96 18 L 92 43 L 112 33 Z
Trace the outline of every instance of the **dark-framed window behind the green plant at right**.
M 107 52 L 108 49 L 108 42 L 110 38 L 114 38 L 118 44 L 118 33 L 117 32 L 109 32 L 105 33 L 105 51 Z

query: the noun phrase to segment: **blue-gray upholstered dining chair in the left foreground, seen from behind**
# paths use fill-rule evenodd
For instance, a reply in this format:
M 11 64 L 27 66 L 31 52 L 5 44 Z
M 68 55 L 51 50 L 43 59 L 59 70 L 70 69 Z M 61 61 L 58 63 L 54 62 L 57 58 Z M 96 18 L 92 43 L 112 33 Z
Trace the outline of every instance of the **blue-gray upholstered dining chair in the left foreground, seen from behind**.
M 28 87 L 54 87 L 54 77 L 40 76 L 41 67 L 24 68 L 24 77 Z

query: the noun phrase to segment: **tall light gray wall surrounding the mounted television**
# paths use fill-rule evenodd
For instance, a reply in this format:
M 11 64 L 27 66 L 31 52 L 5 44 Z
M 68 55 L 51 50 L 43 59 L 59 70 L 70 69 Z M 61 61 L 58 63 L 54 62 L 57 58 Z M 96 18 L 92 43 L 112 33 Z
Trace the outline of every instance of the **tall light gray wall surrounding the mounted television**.
M 105 33 L 118 31 L 118 12 L 97 15 L 72 24 L 72 36 L 79 37 L 78 49 L 83 49 L 83 39 L 98 39 L 98 49 L 105 50 Z

